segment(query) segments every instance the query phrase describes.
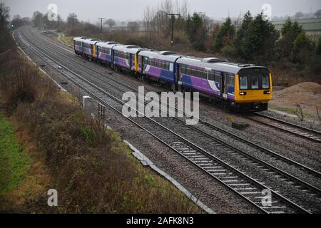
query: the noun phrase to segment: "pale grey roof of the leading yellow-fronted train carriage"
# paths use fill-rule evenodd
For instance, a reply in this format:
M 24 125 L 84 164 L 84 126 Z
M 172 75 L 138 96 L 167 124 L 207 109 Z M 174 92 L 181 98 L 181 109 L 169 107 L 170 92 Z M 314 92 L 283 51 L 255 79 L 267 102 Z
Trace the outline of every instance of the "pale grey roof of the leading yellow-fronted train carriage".
M 238 73 L 243 68 L 265 68 L 263 66 L 255 66 L 253 64 L 229 63 L 224 58 L 195 58 L 184 56 L 179 58 L 177 63 L 199 68 L 210 68 L 215 71 L 223 71 L 228 73 Z

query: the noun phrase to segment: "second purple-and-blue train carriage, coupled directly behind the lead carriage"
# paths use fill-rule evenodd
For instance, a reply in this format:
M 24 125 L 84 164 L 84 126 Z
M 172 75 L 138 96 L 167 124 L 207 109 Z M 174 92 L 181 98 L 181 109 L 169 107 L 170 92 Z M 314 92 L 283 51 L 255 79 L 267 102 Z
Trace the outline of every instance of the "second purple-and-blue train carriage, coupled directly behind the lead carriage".
M 170 51 L 140 51 L 138 53 L 138 73 L 175 86 L 175 63 L 180 58 Z

